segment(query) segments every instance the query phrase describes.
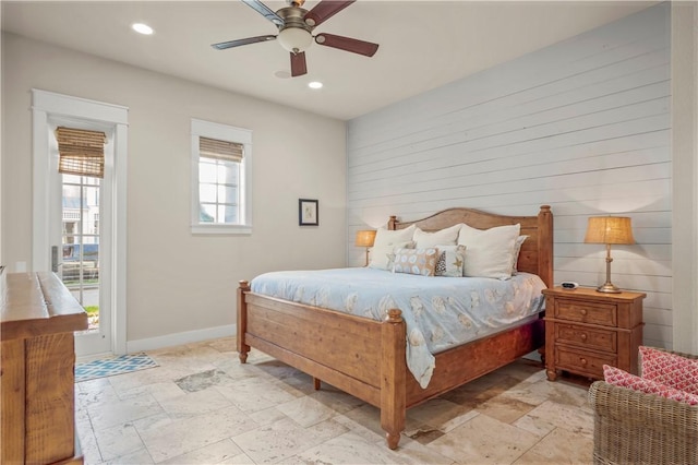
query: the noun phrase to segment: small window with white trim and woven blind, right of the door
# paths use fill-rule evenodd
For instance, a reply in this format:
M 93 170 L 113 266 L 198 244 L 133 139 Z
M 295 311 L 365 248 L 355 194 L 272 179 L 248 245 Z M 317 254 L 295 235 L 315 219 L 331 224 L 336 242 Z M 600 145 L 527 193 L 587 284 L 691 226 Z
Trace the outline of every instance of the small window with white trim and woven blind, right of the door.
M 250 234 L 252 131 L 192 119 L 192 233 Z

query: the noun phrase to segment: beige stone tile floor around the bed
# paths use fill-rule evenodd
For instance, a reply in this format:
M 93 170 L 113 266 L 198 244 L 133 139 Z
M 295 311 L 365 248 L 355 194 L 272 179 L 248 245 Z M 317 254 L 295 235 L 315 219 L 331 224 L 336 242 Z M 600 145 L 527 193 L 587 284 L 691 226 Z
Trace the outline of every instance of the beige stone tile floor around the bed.
M 159 367 L 75 385 L 86 464 L 589 464 L 588 383 L 519 360 L 408 410 L 378 409 L 234 338 L 148 351 Z

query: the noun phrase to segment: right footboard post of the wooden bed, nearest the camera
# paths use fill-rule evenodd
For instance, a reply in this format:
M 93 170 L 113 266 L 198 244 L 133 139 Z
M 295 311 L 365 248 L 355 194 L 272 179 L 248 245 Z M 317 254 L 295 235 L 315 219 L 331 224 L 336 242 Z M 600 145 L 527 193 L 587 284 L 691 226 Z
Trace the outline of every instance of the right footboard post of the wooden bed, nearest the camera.
M 396 449 L 405 429 L 407 362 L 406 325 L 402 312 L 388 310 L 381 330 L 381 427 L 388 448 Z

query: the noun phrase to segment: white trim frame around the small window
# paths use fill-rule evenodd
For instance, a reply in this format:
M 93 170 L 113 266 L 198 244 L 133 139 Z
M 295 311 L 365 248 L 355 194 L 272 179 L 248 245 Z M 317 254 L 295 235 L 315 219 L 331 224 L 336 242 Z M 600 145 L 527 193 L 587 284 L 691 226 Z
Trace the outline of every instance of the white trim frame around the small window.
M 240 218 L 241 224 L 205 224 L 200 220 L 198 202 L 198 138 L 237 142 L 244 145 L 244 158 L 240 166 Z M 191 230 L 192 234 L 249 235 L 252 234 L 252 131 L 217 122 L 192 118 L 191 146 Z

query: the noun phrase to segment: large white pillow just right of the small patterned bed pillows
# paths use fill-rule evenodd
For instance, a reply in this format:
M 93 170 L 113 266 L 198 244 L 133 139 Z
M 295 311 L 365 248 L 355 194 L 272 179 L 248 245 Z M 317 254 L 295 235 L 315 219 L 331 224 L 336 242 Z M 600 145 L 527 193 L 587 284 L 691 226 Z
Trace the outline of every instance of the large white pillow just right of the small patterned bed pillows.
M 458 233 L 458 245 L 468 249 L 464 275 L 497 279 L 512 277 L 514 246 L 520 230 L 520 224 L 484 230 L 464 224 Z

